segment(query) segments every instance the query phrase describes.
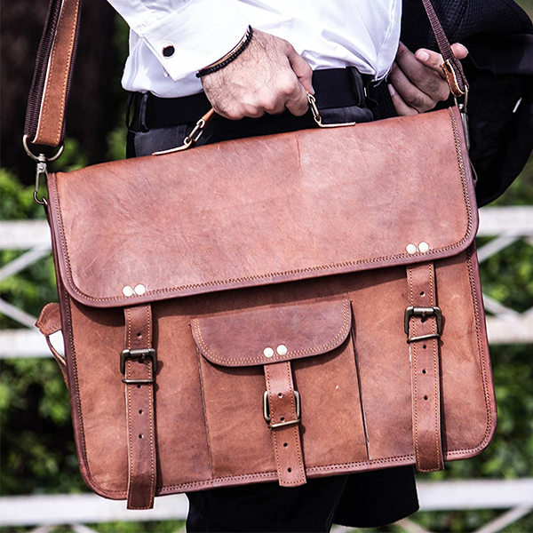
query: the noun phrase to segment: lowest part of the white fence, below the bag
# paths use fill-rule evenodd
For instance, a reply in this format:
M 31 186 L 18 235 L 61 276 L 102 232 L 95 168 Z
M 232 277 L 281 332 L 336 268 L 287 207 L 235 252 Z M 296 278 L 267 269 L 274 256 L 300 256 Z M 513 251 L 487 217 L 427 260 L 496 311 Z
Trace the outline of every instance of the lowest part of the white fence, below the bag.
M 533 479 L 480 481 L 419 481 L 421 511 L 458 511 L 467 509 L 507 510 L 485 524 L 477 533 L 497 533 L 522 516 L 533 512 Z M 94 494 L 1 497 L 1 526 L 36 526 L 45 533 L 53 526 L 68 524 L 76 533 L 90 533 L 83 523 L 110 521 L 184 520 L 187 498 L 174 495 L 155 498 L 149 511 L 128 511 L 123 501 L 107 500 Z M 409 533 L 425 533 L 410 520 L 400 521 Z M 337 527 L 337 531 L 348 530 Z

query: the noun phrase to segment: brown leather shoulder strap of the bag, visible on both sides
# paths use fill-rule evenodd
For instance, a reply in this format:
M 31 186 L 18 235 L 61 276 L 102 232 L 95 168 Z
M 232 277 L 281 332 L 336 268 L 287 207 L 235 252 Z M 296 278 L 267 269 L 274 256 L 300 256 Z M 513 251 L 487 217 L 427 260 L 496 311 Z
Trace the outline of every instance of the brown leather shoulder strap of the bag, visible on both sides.
M 434 12 L 431 0 L 422 0 L 442 53 L 442 68 L 454 96 L 465 94 L 468 84 Z M 28 98 L 26 139 L 33 144 L 59 147 L 65 137 L 65 108 L 74 68 L 81 0 L 50 0 L 36 68 Z

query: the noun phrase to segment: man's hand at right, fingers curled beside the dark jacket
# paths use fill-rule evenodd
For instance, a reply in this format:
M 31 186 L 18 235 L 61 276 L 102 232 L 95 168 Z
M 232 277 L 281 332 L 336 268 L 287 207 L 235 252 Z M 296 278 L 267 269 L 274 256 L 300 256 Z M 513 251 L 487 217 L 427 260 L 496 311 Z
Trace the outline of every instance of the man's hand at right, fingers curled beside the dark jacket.
M 468 51 L 462 44 L 452 44 L 458 60 L 464 60 Z M 441 65 L 442 55 L 426 48 L 416 53 L 402 43 L 388 76 L 389 91 L 398 115 L 417 115 L 433 109 L 439 101 L 449 98 L 449 86 Z

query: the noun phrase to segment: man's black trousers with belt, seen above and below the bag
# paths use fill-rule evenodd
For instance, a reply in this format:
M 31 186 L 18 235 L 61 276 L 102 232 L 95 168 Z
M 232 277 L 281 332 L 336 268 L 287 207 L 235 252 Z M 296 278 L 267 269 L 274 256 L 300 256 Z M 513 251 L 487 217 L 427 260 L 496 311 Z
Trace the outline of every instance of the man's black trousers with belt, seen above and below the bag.
M 385 84 L 375 86 L 354 68 L 314 73 L 317 106 L 324 123 L 370 122 L 394 115 Z M 210 107 L 202 94 L 183 99 L 131 95 L 127 155 L 150 155 L 178 147 Z M 129 106 L 130 107 L 130 106 Z M 214 119 L 199 145 L 315 128 L 313 115 L 264 115 L 259 119 Z M 373 472 L 308 480 L 296 488 L 263 483 L 187 494 L 187 531 L 329 531 L 333 523 L 373 527 L 418 510 L 413 469 L 402 466 Z

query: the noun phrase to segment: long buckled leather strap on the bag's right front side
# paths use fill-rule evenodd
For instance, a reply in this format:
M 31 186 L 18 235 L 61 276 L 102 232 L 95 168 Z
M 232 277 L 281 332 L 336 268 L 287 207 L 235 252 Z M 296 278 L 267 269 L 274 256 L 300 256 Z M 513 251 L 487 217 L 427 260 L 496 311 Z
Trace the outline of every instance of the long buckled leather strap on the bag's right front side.
M 421 309 L 437 306 L 433 263 L 407 267 L 410 306 L 407 333 L 410 346 L 413 441 L 420 472 L 444 468 L 441 437 L 440 333 L 438 313 Z M 409 310 L 409 307 L 408 307 Z M 418 310 L 418 311 L 417 311 Z M 439 310 L 440 311 L 440 310 Z

